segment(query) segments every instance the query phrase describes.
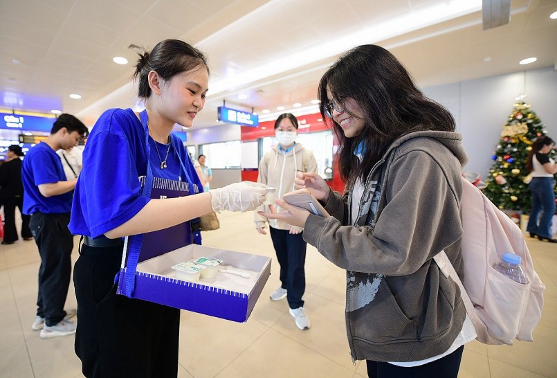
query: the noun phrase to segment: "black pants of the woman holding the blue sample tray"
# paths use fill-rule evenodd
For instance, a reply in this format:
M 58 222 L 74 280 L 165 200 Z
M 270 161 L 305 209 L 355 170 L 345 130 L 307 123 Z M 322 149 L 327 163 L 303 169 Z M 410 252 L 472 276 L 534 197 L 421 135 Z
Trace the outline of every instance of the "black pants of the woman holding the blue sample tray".
M 75 262 L 75 354 L 85 377 L 176 377 L 180 310 L 116 294 L 122 246 L 82 246 Z

